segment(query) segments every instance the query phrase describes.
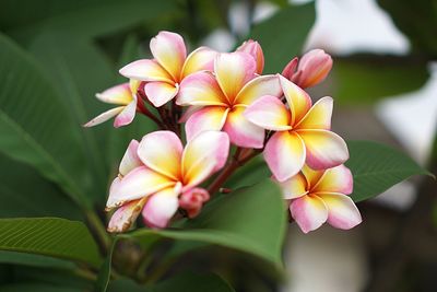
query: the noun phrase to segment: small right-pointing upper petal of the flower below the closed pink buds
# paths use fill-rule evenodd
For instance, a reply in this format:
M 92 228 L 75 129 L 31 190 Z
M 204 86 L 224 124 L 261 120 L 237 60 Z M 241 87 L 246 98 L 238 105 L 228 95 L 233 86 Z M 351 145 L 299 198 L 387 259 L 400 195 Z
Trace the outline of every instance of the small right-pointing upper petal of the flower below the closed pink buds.
M 303 119 L 296 125 L 297 129 L 331 129 L 332 97 L 326 96 L 317 101 Z

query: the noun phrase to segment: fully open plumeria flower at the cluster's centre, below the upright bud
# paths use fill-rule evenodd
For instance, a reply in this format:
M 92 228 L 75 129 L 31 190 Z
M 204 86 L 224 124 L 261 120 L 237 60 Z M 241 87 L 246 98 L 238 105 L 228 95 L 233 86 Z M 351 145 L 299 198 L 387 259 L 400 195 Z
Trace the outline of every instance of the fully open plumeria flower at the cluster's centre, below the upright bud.
M 215 75 L 202 71 L 186 78 L 176 103 L 197 107 L 186 122 L 187 139 L 204 130 L 223 130 L 238 147 L 262 148 L 263 128 L 249 122 L 243 113 L 263 95 L 280 96 L 281 87 L 277 77 L 256 72 L 255 58 L 236 51 L 215 58 Z

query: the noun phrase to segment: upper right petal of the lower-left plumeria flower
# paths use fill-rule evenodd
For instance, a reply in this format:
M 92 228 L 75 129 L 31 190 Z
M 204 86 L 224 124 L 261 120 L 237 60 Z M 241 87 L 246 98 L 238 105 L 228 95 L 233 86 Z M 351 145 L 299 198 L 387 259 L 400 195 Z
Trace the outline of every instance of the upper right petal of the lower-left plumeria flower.
M 225 132 L 204 131 L 188 141 L 182 154 L 182 174 L 187 191 L 222 168 L 229 153 Z

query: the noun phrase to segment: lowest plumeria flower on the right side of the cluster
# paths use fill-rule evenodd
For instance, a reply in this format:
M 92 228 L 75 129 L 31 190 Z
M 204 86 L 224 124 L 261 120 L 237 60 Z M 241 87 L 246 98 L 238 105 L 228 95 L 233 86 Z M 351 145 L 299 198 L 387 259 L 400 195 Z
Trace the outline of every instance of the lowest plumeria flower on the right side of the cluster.
M 326 171 L 304 166 L 302 173 L 280 183 L 290 212 L 303 232 L 308 233 L 324 222 L 349 230 L 362 222 L 354 201 L 347 196 L 353 189 L 351 171 L 339 165 Z

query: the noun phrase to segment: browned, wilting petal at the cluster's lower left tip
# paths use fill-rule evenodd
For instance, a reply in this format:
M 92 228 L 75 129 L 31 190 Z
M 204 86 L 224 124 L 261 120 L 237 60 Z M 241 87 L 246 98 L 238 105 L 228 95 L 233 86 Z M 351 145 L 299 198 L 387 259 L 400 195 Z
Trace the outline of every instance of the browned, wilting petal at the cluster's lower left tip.
M 147 198 L 125 203 L 114 212 L 108 223 L 108 232 L 125 232 L 135 222 Z

